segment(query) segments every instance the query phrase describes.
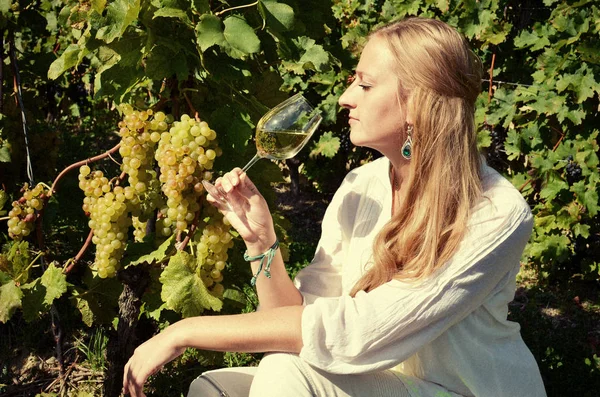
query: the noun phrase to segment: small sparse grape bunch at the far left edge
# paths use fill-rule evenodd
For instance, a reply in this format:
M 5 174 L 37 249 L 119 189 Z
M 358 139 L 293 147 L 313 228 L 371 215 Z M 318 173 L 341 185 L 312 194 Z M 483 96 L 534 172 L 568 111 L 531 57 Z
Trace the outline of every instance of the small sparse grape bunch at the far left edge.
M 19 200 L 13 201 L 12 209 L 8 213 L 8 235 L 13 240 L 22 240 L 33 232 L 36 211 L 44 208 L 48 198 L 48 188 L 38 183 L 33 189 L 26 183 L 21 192 L 23 195 Z

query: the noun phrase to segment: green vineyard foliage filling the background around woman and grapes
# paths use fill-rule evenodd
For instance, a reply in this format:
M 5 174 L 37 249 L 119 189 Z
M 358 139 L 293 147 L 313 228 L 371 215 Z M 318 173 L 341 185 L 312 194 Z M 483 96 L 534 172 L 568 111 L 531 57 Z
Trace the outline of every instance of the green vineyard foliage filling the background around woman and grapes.
M 349 168 L 372 156 L 348 147 L 337 105 L 367 33 L 393 19 L 427 16 L 461 31 L 486 68 L 477 109 L 480 145 L 534 212 L 524 261 L 548 281 L 600 278 L 600 9 L 595 1 L 31 0 L 3 1 L 0 7 L 0 175 L 6 177 L 0 209 L 5 214 L 26 181 L 23 120 L 31 138 L 29 155 L 34 165 L 42 164 L 34 171 L 49 182 L 60 170 L 56 128 L 46 124 L 80 120 L 104 128 L 104 118 L 103 137 L 116 143 L 121 138 L 112 131 L 126 117 L 117 105 L 124 103 L 170 113 L 173 120 L 208 122 L 222 150 L 214 171 L 224 171 L 253 155 L 253 129 L 269 107 L 304 92 L 325 121 L 310 155 L 300 155 L 301 169 L 315 187 L 332 191 Z M 20 95 L 11 90 L 17 77 Z M 52 149 L 44 153 L 40 147 Z M 148 159 L 150 175 L 155 164 L 154 157 Z M 270 183 L 280 180 L 280 168 L 265 160 L 252 172 L 272 201 Z M 63 178 L 75 179 L 76 172 Z M 115 186 L 112 182 L 111 189 Z M 60 194 L 54 196 L 60 202 Z M 207 289 L 211 282 L 205 280 L 198 245 L 202 231 L 220 221 L 214 212 L 198 218 L 197 229 L 186 224 L 178 236 L 150 233 L 143 242 L 129 240 L 121 268 L 150 269 L 153 282 L 143 306 L 150 318 L 159 320 L 165 309 L 181 316 L 218 311 L 224 297 L 243 295 L 234 276 L 248 276 L 236 263 L 241 249 L 230 251 L 225 291 Z M 96 268 L 69 280 L 61 269 L 71 263 L 52 262 L 33 235 L 7 243 L 0 257 L 0 321 L 7 322 L 18 308 L 33 320 L 69 294 L 88 325 L 111 322 L 120 283 L 99 278 Z M 181 249 L 187 235 L 192 243 Z M 50 263 L 40 266 L 42 259 Z

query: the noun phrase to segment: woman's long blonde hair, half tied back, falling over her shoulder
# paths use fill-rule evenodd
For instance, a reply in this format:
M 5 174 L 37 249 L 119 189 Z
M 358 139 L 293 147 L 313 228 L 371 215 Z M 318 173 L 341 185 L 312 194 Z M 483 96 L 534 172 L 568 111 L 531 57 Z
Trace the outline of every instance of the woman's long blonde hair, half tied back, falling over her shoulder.
M 373 266 L 351 291 L 427 278 L 466 233 L 481 195 L 475 100 L 482 69 L 466 40 L 443 22 L 409 18 L 375 30 L 396 58 L 401 104 L 413 117 L 405 199 L 375 238 Z M 400 150 L 400 148 L 398 148 Z

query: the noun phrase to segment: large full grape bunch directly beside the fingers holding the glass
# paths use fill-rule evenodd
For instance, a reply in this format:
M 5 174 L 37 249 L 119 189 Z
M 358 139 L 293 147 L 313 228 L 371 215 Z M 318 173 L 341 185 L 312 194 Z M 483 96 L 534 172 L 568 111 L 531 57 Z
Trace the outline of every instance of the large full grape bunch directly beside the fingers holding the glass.
M 173 229 L 186 230 L 200 209 L 198 200 L 204 191 L 201 181 L 212 178 L 213 162 L 222 153 L 216 137 L 206 122 L 186 114 L 161 134 L 155 158 L 160 167 L 162 192 L 167 198 L 160 210 L 160 231 L 164 236 Z

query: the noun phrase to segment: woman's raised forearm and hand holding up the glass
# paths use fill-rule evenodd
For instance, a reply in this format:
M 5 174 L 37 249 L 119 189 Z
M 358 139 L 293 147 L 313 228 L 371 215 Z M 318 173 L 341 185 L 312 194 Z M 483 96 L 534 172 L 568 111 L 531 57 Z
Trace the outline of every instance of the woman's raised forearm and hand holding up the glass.
M 246 243 L 248 255 L 265 253 L 277 236 L 269 207 L 256 186 L 239 168 L 217 179 L 215 186 L 226 193 L 229 207 L 210 195 L 208 200 L 238 231 Z M 252 274 L 257 273 L 259 263 L 259 260 L 250 263 Z M 302 304 L 302 295 L 288 276 L 279 249 L 271 263 L 271 278 L 267 278 L 264 272 L 261 272 L 256 278 L 256 291 L 261 310 Z

